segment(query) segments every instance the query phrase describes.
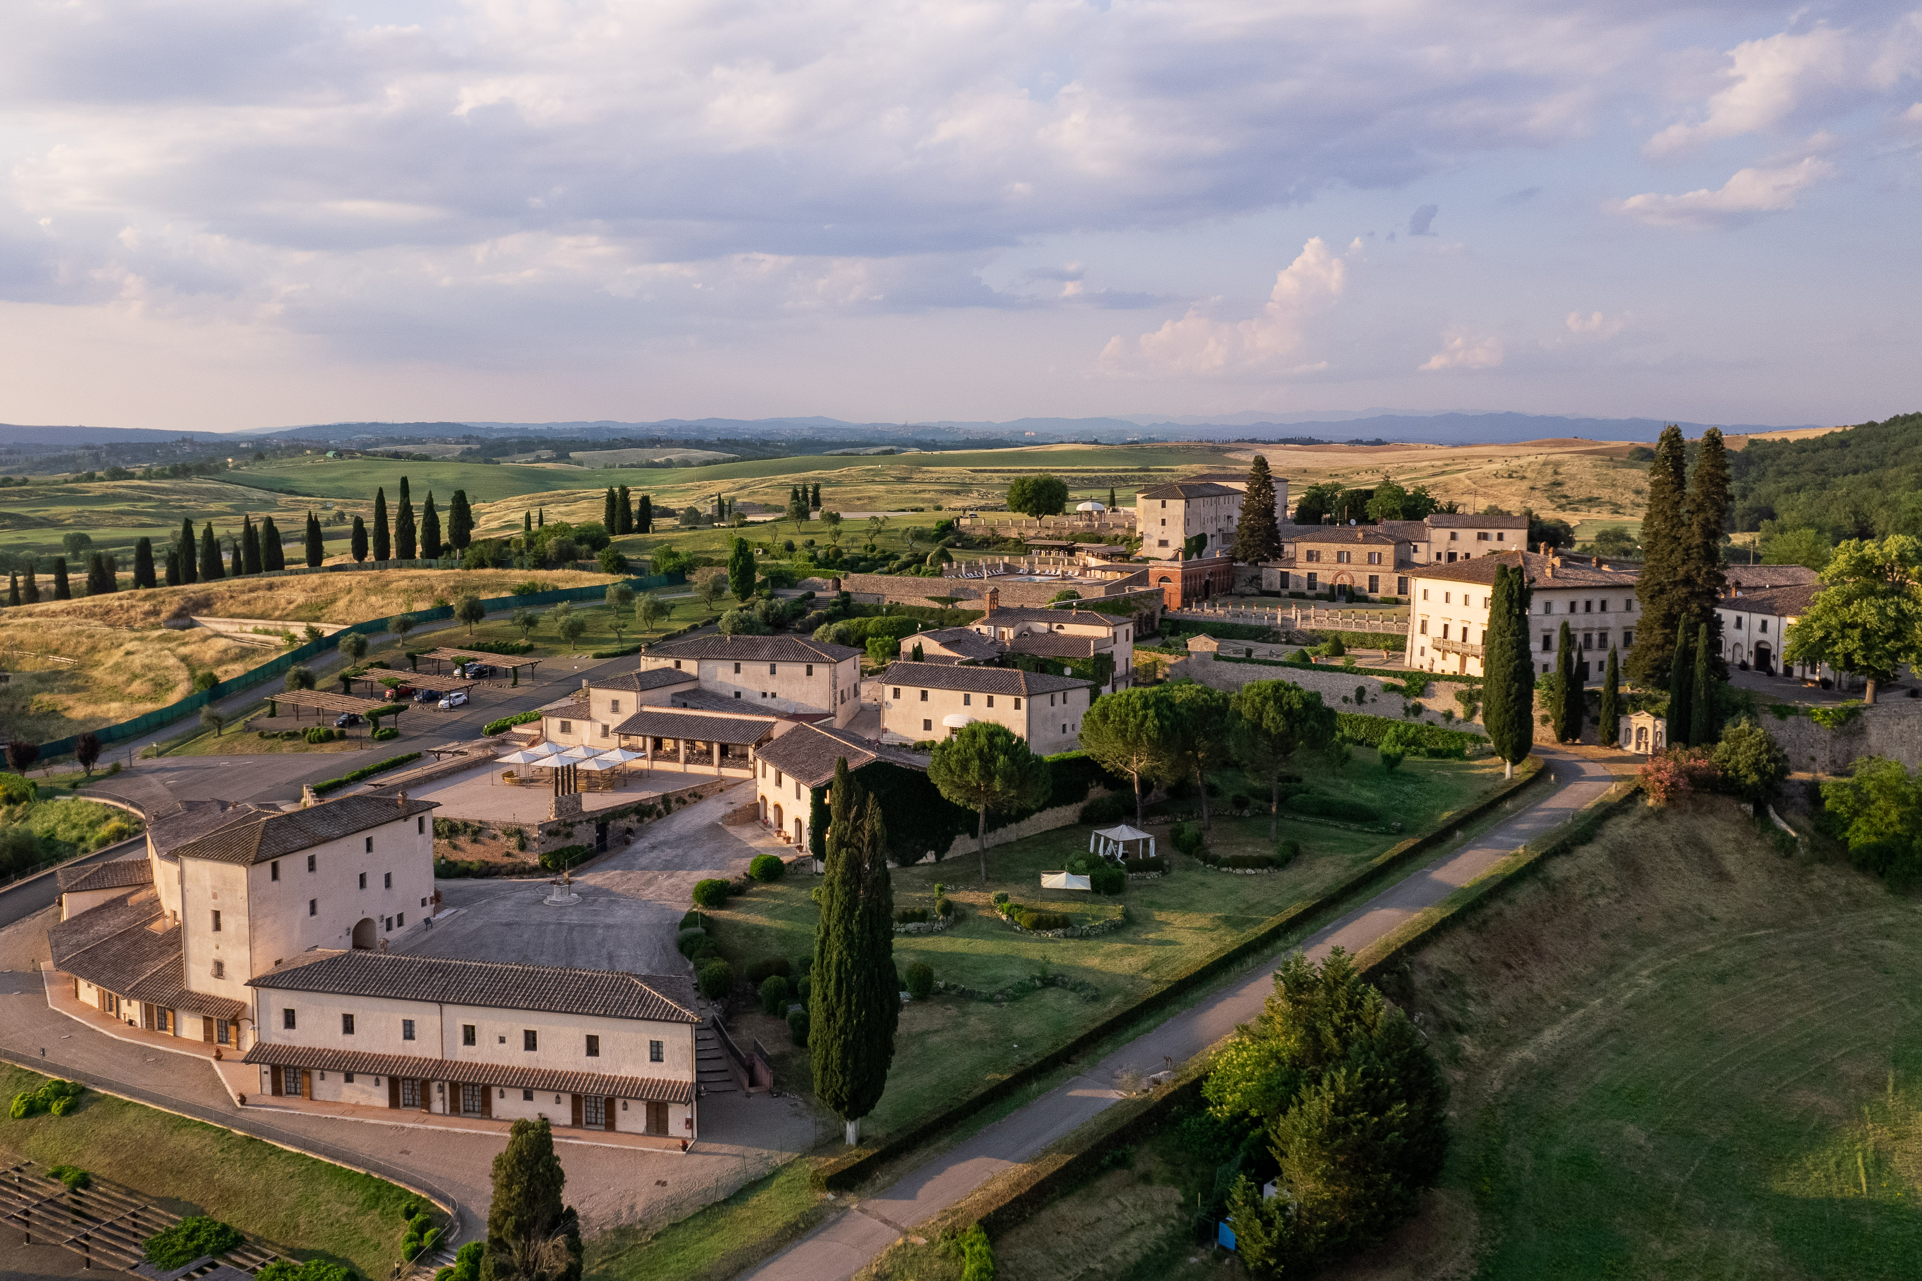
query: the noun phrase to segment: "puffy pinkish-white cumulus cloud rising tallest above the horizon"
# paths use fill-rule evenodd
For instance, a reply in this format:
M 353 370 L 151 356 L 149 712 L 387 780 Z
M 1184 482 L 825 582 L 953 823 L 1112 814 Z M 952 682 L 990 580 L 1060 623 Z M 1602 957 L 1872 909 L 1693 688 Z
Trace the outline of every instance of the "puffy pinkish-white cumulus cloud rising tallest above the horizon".
M 1274 277 L 1261 315 L 1244 321 L 1211 319 L 1190 308 L 1155 333 L 1134 342 L 1115 335 L 1101 350 L 1097 367 L 1113 375 L 1219 375 L 1274 367 L 1303 342 L 1303 323 L 1342 298 L 1347 269 L 1328 244 L 1315 237 L 1292 264 Z M 1324 369 L 1326 362 L 1295 365 L 1286 373 Z

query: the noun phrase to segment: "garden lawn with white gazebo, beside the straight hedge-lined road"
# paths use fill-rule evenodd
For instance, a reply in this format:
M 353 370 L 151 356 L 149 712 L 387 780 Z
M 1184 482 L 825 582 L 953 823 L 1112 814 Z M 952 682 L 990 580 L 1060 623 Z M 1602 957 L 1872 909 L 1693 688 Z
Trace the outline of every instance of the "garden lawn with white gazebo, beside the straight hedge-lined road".
M 898 908 L 930 906 L 934 885 L 961 906 L 959 925 L 938 935 L 898 935 L 896 964 L 926 962 L 934 977 L 971 989 L 996 991 L 1036 973 L 1086 981 L 1094 996 L 1046 987 L 1005 1004 L 936 996 L 901 1012 L 888 1093 L 867 1121 L 867 1131 L 886 1135 L 1005 1077 L 1015 1068 L 1047 1054 L 1082 1029 L 1138 1002 L 1234 944 L 1272 916 L 1326 892 L 1367 860 L 1405 835 L 1424 831 L 1445 812 L 1461 810 L 1501 781 L 1501 767 L 1488 762 L 1411 760 L 1388 773 L 1374 752 L 1313 783 L 1349 798 L 1368 798 L 1403 821 L 1401 835 L 1343 831 L 1282 819 L 1282 837 L 1301 842 L 1294 866 L 1270 875 L 1230 875 L 1174 856 L 1174 871 L 1159 881 L 1134 881 L 1117 900 L 1072 891 L 1040 889 L 1040 873 L 1059 869 L 1067 858 L 1088 850 L 1090 827 L 1074 825 L 988 850 L 988 883 L 980 881 L 974 854 L 940 864 L 894 869 Z M 1232 794 L 1228 787 L 1222 787 Z M 1182 802 L 1176 802 L 1182 804 Z M 1157 833 L 1167 833 L 1161 825 Z M 1222 854 L 1269 852 L 1269 819 L 1217 817 L 1213 848 Z M 723 950 L 738 964 L 763 956 L 800 962 L 813 950 L 817 908 L 809 891 L 815 877 L 790 873 L 769 887 L 730 898 L 709 914 Z M 1038 939 L 1017 933 L 990 910 L 996 891 L 1028 906 L 1071 912 L 1080 919 L 1113 916 L 1124 904 L 1132 921 L 1096 939 Z M 752 1016 L 742 1031 L 759 1035 L 778 1054 L 776 1079 L 786 1089 L 805 1087 L 805 1054 L 788 1048 L 788 1035 L 775 1019 Z

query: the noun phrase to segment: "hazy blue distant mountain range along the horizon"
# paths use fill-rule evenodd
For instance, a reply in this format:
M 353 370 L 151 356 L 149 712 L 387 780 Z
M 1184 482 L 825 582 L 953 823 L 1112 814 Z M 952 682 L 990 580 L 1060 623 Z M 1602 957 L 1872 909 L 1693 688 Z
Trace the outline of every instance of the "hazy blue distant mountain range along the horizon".
M 1034 442 L 1090 440 L 1115 444 L 1124 440 L 1392 440 L 1411 444 L 1515 444 L 1555 437 L 1589 440 L 1655 440 L 1666 419 L 1657 417 L 1561 417 L 1547 414 L 1409 414 L 1390 410 L 1317 412 L 1317 414 L 1220 414 L 1184 417 L 1017 417 L 1011 421 L 936 419 L 921 423 L 850 423 L 838 417 L 667 417 L 652 423 L 621 423 L 611 419 L 565 423 L 309 423 L 258 431 L 156 431 L 148 427 L 19 427 L 0 423 L 0 448 L 71 448 L 77 444 L 135 444 L 160 440 L 238 440 L 238 439 L 300 439 L 300 440 L 404 440 L 434 437 L 561 437 L 571 440 L 621 440 L 634 437 L 707 440 L 767 439 L 875 439 L 890 440 L 971 440 Z M 1722 431 L 1789 431 L 1782 425 L 1716 423 Z M 1709 423 L 1682 423 L 1689 437 L 1699 437 Z M 1814 427 L 1814 423 L 1807 423 Z

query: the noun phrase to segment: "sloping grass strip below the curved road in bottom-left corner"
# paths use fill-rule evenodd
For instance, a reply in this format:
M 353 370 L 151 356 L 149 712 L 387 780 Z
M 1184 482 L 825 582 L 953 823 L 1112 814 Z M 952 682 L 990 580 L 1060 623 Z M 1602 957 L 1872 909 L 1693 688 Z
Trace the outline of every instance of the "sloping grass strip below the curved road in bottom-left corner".
M 0 1098 L 46 1081 L 0 1064 Z M 363 1277 L 392 1271 L 406 1231 L 402 1206 L 427 1204 L 373 1175 L 94 1091 L 67 1116 L 4 1121 L 0 1144 L 40 1166 L 79 1166 L 175 1214 L 209 1214 L 296 1258 L 325 1258 Z

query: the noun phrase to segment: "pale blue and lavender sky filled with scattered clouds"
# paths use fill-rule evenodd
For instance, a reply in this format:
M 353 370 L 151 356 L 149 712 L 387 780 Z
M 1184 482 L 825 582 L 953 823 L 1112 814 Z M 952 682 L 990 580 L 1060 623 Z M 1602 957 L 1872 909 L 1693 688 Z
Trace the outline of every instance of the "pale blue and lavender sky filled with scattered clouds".
M 10 0 L 0 421 L 1849 423 L 1918 210 L 1901 4 Z

